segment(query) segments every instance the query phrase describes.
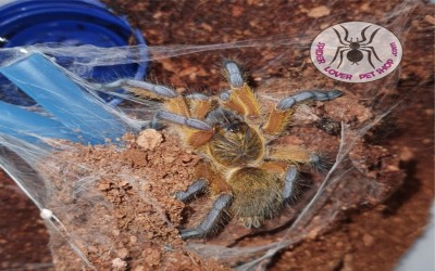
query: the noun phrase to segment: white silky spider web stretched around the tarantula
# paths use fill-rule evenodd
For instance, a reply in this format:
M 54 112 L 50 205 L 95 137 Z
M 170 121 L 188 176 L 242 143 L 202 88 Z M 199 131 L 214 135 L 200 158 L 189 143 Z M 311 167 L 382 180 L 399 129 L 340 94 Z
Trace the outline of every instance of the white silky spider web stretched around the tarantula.
M 326 9 L 330 8 L 331 10 L 334 4 L 336 3 L 322 7 Z M 420 5 L 418 1 L 403 1 L 391 11 L 383 14 L 381 18 L 369 12 L 364 20 L 388 28 L 405 43 L 405 36 L 409 29 L 409 22 L 420 18 L 420 14 L 412 13 L 418 5 Z M 412 14 L 412 17 L 410 14 Z M 223 55 L 237 55 L 236 59 L 246 60 L 245 55 L 251 56 L 259 52 L 263 55 L 261 60 L 248 59 L 244 61 L 244 65 L 250 70 L 250 76 L 254 78 L 254 80 L 262 79 L 257 81 L 257 85 L 259 85 L 258 88 L 261 89 L 261 85 L 268 86 L 268 83 L 270 83 L 274 86 L 274 78 L 271 75 L 283 69 L 283 67 L 291 66 L 291 62 L 295 62 L 299 55 L 303 55 L 303 61 L 297 62 L 298 66 L 291 66 L 291 68 L 287 69 L 287 73 L 295 73 L 297 76 L 301 77 L 308 74 L 308 76 L 312 77 L 310 81 L 304 81 L 308 86 L 299 86 L 299 82 L 288 82 L 286 85 L 287 88 L 277 88 L 274 91 L 259 91 L 259 95 L 264 100 L 276 102 L 297 90 L 309 88 L 343 89 L 348 96 L 361 102 L 365 107 L 371 108 L 370 117 L 357 125 L 341 121 L 341 129 L 338 136 L 340 140 L 336 145 L 336 156 L 331 170 L 323 177 L 323 180 L 313 184 L 311 194 L 308 194 L 307 198 L 299 205 L 299 209 L 293 212 L 291 219 L 287 219 L 287 227 L 281 231 L 278 238 L 259 246 L 235 245 L 231 247 L 212 243 L 188 242 L 188 248 L 206 259 L 213 258 L 227 262 L 237 270 L 252 270 L 253 268 L 265 269 L 271 258 L 281 249 L 297 244 L 304 238 L 316 236 L 322 231 L 326 230 L 339 215 L 339 210 L 344 206 L 343 202 L 345 202 L 340 193 L 345 193 L 347 189 L 365 191 L 366 195 L 372 196 L 381 193 L 380 190 L 383 189 L 382 185 L 376 183 L 372 178 L 361 173 L 358 163 L 353 162 L 351 157 L 349 157 L 349 154 L 353 151 L 355 146 L 359 144 L 361 139 L 368 134 L 370 129 L 376 127 L 385 117 L 397 109 L 401 99 L 403 99 L 398 98 L 391 100 L 387 95 L 378 95 L 380 92 L 388 92 L 388 90 L 396 88 L 401 72 L 400 68 L 382 80 L 364 83 L 364 86 L 353 86 L 334 80 L 325 80 L 320 73 L 312 73 L 312 69 L 307 70 L 306 66 L 311 64 L 307 61 L 309 56 L 306 53 L 310 49 L 311 41 L 321 30 L 321 25 L 315 14 L 313 17 L 309 27 L 294 26 L 290 21 L 282 22 L 281 24 L 291 28 L 290 34 L 285 37 L 270 36 L 265 38 L 212 44 L 176 44 L 163 47 L 130 46 L 122 48 L 36 44 L 25 48 L 1 49 L 0 54 L 3 60 L 1 65 L 13 63 L 23 55 L 33 52 L 50 55 L 53 60 L 67 57 L 73 65 L 71 65 L 67 70 L 61 67 L 59 68 L 91 94 L 95 99 L 95 106 L 104 107 L 110 111 L 117 119 L 121 119 L 123 125 L 128 127 L 128 131 L 137 132 L 140 127 L 150 121 L 152 113 L 159 107 L 159 104 L 139 101 L 125 94 L 119 94 L 121 98 L 129 99 L 133 103 L 139 103 L 140 106 L 134 106 L 132 103 L 127 103 L 120 108 L 111 108 L 101 102 L 95 85 L 80 78 L 80 74 L 87 73 L 98 66 L 137 64 L 147 61 L 153 64 L 174 60 L 174 62 L 177 63 L 177 61 L 183 62 L 184 60 L 189 61 L 191 59 L 194 60 L 192 62 L 195 62 L 201 57 L 206 57 L 206 60 L 220 60 Z M 330 25 L 334 25 L 333 22 L 336 22 L 334 15 L 326 15 L 326 17 L 331 18 Z M 144 51 L 147 51 L 148 54 L 141 53 Z M 203 68 L 207 69 L 208 67 Z M 219 78 L 215 74 L 209 76 Z M 296 76 L 284 77 L 283 80 L 295 79 L 295 77 Z M 158 80 L 159 79 L 156 81 Z M 174 86 L 173 82 L 170 82 L 170 85 Z M 211 90 L 208 91 L 217 92 L 222 90 L 222 88 L 221 86 L 211 86 Z M 412 91 L 410 91 L 410 93 L 412 93 Z M 374 100 L 373 96 L 376 96 L 376 100 Z M 37 112 L 41 111 L 38 106 L 33 109 Z M 64 109 L 67 111 L 67 108 Z M 338 111 L 337 116 L 340 116 L 340 114 L 341 117 L 346 117 L 343 111 Z M 313 115 L 314 119 L 316 118 L 315 112 L 308 108 L 307 112 L 304 112 L 304 107 L 301 107 L 301 109 L 296 113 L 296 118 L 302 119 L 300 121 L 303 122 L 303 119 L 310 119 L 310 115 Z M 86 116 L 84 116 L 84 118 Z M 98 118 L 98 116 L 96 117 Z M 22 131 L 20 125 L 13 129 L 16 133 L 28 133 L 28 131 Z M 70 191 L 71 194 L 69 194 L 71 202 L 53 202 L 53 199 L 58 198 L 55 193 L 59 193 L 60 190 L 55 185 L 59 184 L 47 177 L 40 165 L 45 164 L 48 157 L 52 155 L 53 151 L 70 152 L 72 147 L 69 144 L 64 144 L 62 141 L 48 140 L 46 138 L 40 138 L 40 140 L 44 141 L 45 144 L 33 144 L 18 138 L 0 133 L 0 145 L 2 146 L 0 149 L 0 166 L 41 210 L 41 216 L 52 234 L 65 240 L 72 248 L 72 251 L 83 260 L 84 264 L 88 268 L 96 268 L 86 254 L 91 246 L 90 243 L 92 243 L 92 238 L 97 240 L 99 245 L 107 247 L 108 250 L 113 246 L 114 241 L 103 234 L 98 234 L 95 229 L 88 229 L 88 232 L 79 232 L 76 231 L 73 225 L 77 223 L 74 216 L 86 214 L 86 208 L 89 205 L 98 205 L 99 208 L 102 209 L 111 208 L 110 204 L 103 202 L 99 195 L 90 191 L 92 184 L 101 177 L 99 176 L 101 172 L 92 172 L 86 164 L 77 163 L 75 166 L 82 168 L 83 171 L 67 172 L 62 177 L 65 178 L 65 180 L 70 177 L 71 181 L 74 182 L 73 184 L 69 184 L 74 186 L 74 190 L 72 192 Z M 116 152 L 116 150 L 114 150 L 114 152 Z M 49 170 L 52 168 L 53 171 L 57 171 L 57 167 L 59 167 L 59 165 L 52 164 L 45 166 L 49 168 Z M 126 177 L 126 172 L 120 172 L 119 176 L 120 178 L 128 178 L 132 183 L 139 183 L 140 181 L 138 177 Z M 353 178 L 355 176 L 359 177 L 358 181 L 349 183 L 349 177 Z M 64 191 L 62 191 L 62 193 L 64 193 Z M 76 198 L 83 202 L 77 203 Z M 154 207 L 160 212 L 162 212 L 164 208 L 157 205 Z M 65 215 L 67 211 L 72 211 L 74 215 Z M 91 214 L 87 214 L 87 216 L 91 217 Z M 319 221 L 316 218 L 322 219 Z M 101 257 L 104 256 L 102 255 Z

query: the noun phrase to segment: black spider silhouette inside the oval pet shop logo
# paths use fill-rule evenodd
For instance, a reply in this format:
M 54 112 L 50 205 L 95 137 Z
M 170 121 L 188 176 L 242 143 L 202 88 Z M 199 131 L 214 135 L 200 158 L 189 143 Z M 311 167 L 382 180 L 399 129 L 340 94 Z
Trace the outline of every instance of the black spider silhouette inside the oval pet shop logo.
M 381 29 L 381 27 L 372 33 L 372 36 L 370 36 L 370 39 L 368 41 L 368 39 L 365 37 L 365 31 L 366 31 L 366 29 L 369 27 L 371 27 L 371 25 L 369 25 L 368 27 L 365 27 L 361 31 L 362 40 L 359 40 L 358 37 L 357 37 L 357 41 L 353 41 L 353 38 L 350 38 L 350 40 L 348 39 L 349 38 L 349 31 L 343 25 L 340 25 L 340 26 L 341 26 L 343 29 L 345 29 L 345 38 L 343 40 L 341 40 L 341 36 L 339 35 L 339 33 L 335 28 L 333 28 L 333 29 L 334 29 L 335 34 L 337 35 L 338 40 L 343 44 L 343 47 L 337 47 L 337 51 L 335 51 L 334 59 L 330 63 L 330 65 L 337 59 L 338 53 L 339 53 L 340 61 L 339 61 L 338 66 L 337 66 L 337 68 L 339 68 L 339 66 L 343 63 L 343 54 L 345 52 L 347 52 L 346 57 L 352 63 L 352 65 L 353 64 L 358 65 L 358 62 L 360 62 L 364 56 L 363 52 L 366 52 L 368 56 L 369 56 L 370 65 L 373 68 L 375 68 L 374 65 L 373 65 L 373 62 L 372 62 L 372 53 L 376 57 L 376 60 L 378 60 L 380 62 L 382 62 L 382 61 L 377 56 L 376 51 L 374 50 L 374 48 L 370 47 L 370 43 L 372 43 L 374 36 L 377 34 L 377 31 Z

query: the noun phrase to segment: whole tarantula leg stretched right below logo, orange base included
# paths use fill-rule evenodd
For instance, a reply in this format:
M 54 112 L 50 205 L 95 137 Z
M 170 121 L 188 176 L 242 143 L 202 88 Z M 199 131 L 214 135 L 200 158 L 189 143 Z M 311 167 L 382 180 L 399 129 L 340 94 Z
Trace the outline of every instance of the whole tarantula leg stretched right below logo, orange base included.
M 277 136 L 285 131 L 290 122 L 294 113 L 294 105 L 307 100 L 327 101 L 343 95 L 339 90 L 318 91 L 308 90 L 283 99 L 271 109 L 266 122 L 262 126 L 262 131 L 266 134 Z

